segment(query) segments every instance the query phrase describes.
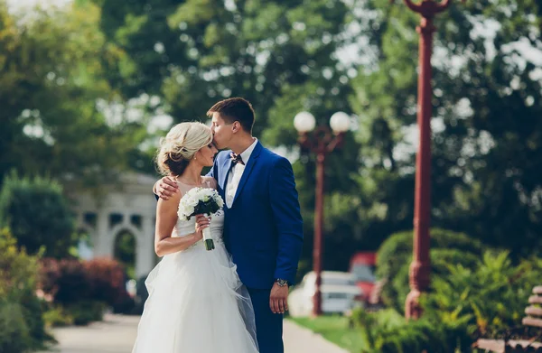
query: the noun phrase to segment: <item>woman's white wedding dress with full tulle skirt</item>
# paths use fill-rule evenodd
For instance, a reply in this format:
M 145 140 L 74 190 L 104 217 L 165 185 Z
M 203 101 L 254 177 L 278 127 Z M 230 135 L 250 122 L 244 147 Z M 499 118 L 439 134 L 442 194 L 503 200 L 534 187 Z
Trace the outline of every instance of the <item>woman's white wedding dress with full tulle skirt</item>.
M 220 211 L 221 212 L 221 211 Z M 222 241 L 224 215 L 211 218 L 215 249 L 201 241 L 165 255 L 148 275 L 149 297 L 133 353 L 256 353 L 254 311 Z M 178 220 L 172 237 L 194 232 Z

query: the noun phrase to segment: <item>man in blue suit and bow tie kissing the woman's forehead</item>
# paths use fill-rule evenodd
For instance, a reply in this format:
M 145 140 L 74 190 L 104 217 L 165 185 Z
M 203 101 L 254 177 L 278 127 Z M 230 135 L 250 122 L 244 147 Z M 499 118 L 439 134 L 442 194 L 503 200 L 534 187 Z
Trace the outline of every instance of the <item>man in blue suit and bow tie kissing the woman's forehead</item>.
M 283 314 L 303 243 L 303 219 L 292 165 L 252 136 L 254 109 L 243 98 L 209 109 L 214 144 L 220 152 L 209 175 L 225 200 L 224 242 L 238 266 L 254 306 L 260 353 L 283 353 Z M 165 177 L 163 199 L 177 184 Z

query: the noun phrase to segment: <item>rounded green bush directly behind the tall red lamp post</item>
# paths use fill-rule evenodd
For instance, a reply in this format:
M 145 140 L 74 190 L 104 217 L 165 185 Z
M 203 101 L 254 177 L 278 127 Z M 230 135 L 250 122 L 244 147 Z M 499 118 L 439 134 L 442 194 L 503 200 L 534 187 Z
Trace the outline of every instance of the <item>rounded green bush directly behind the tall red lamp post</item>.
M 448 274 L 448 265 L 462 264 L 472 268 L 481 256 L 481 243 L 463 233 L 433 228 L 430 231 L 431 274 Z M 413 231 L 394 234 L 380 246 L 377 255 L 377 276 L 386 283 L 382 300 L 404 311 L 409 292 L 408 272 L 412 262 Z

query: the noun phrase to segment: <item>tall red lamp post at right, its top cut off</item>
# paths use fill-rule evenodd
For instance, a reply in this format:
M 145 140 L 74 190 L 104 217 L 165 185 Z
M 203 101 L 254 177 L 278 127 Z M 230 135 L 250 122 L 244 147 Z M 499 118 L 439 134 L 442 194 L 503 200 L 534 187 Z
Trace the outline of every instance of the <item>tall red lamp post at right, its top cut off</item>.
M 416 28 L 420 33 L 417 124 L 420 131 L 420 144 L 416 155 L 416 189 L 414 209 L 414 254 L 410 265 L 410 293 L 406 296 L 406 318 L 417 319 L 421 315 L 419 297 L 430 283 L 429 260 L 429 218 L 431 214 L 431 53 L 433 51 L 433 18 L 443 12 L 452 0 L 422 0 L 414 4 L 404 0 L 412 11 L 420 14 L 422 20 Z M 462 0 L 464 2 L 464 0 Z

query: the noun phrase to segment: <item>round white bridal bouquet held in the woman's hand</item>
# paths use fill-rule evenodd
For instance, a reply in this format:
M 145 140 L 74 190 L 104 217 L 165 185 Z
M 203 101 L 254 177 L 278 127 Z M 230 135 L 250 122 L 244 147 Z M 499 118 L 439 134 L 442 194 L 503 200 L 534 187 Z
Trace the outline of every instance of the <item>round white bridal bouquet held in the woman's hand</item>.
M 179 204 L 179 218 L 189 220 L 195 215 L 209 217 L 216 214 L 224 207 L 224 200 L 219 192 L 210 188 L 194 188 L 189 190 L 181 199 Z M 207 250 L 214 249 L 210 228 L 203 229 L 203 243 Z

